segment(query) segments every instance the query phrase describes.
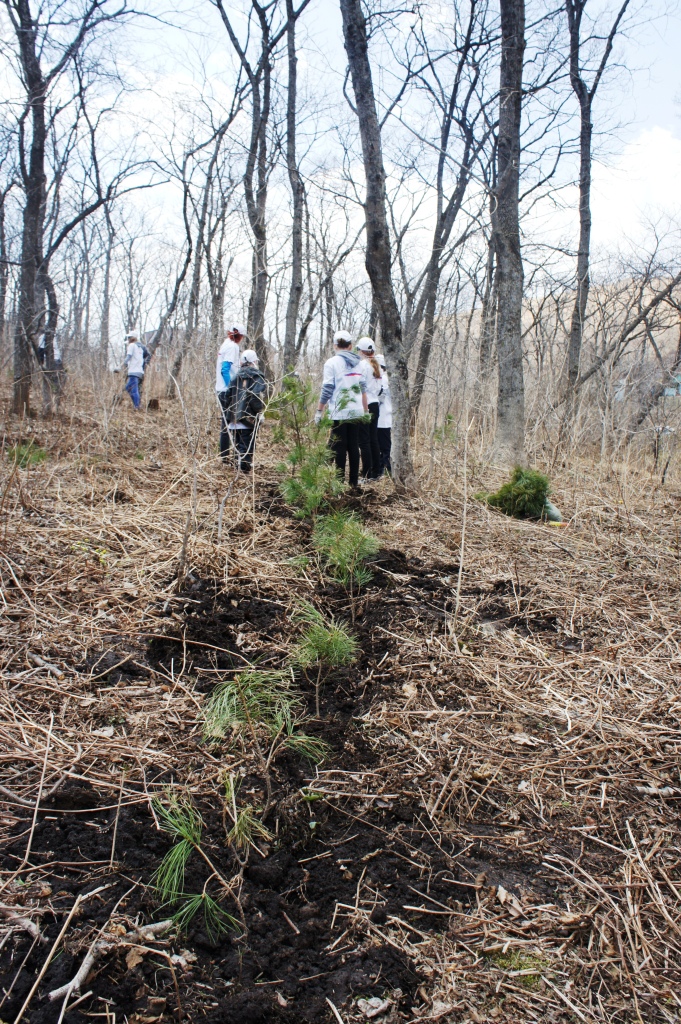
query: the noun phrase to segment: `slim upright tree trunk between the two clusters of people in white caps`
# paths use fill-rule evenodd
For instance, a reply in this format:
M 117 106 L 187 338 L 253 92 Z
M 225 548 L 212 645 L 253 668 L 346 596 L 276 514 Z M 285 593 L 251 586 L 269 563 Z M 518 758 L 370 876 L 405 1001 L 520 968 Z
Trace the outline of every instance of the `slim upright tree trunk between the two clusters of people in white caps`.
M 303 293 L 303 179 L 296 160 L 296 105 L 298 87 L 298 57 L 296 55 L 296 16 L 293 0 L 287 0 L 286 12 L 289 19 L 287 48 L 289 57 L 289 86 L 286 109 L 286 164 L 293 199 L 293 223 L 291 226 L 291 286 L 286 309 L 286 330 L 284 334 L 284 373 L 296 368 L 296 336 L 300 300 Z

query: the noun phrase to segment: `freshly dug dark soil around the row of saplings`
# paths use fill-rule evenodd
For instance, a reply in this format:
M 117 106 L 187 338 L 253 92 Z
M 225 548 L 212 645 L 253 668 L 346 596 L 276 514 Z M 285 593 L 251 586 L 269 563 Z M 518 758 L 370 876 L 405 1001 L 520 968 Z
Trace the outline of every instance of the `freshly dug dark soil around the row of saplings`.
M 275 497 L 263 500 L 261 506 L 264 514 L 290 514 Z M 303 526 L 301 537 L 305 538 Z M 358 717 L 381 698 L 382 691 L 391 693 L 402 685 L 399 637 L 413 630 L 441 627 L 453 607 L 458 565 L 427 564 L 386 549 L 376 557 L 373 571 L 373 582 L 355 608 L 353 630 L 360 642 L 360 657 L 351 670 L 338 672 L 327 681 L 323 720 L 308 728 L 331 748 L 325 767 L 347 773 L 367 773 L 382 766 L 382 754 L 368 740 Z M 523 618 L 523 609 L 517 605 L 515 613 L 508 614 L 512 582 L 500 581 L 485 593 L 467 592 L 464 587 L 463 593 L 467 600 L 478 602 L 480 620 L 507 620 L 516 628 L 522 621 L 528 630 L 551 628 L 545 617 L 538 622 L 525 614 Z M 323 587 L 315 600 L 347 617 L 347 595 L 337 585 Z M 148 641 L 145 651 L 137 652 L 119 669 L 116 666 L 126 656 L 129 645 L 91 654 L 88 668 L 96 666 L 97 674 L 111 669 L 105 685 L 159 669 L 170 673 L 173 663 L 179 665 L 188 651 L 189 670 L 198 673 L 198 689 L 209 690 L 213 684 L 210 677 L 201 675 L 201 669 L 242 666 L 245 637 L 247 641 L 257 639 L 260 666 L 279 667 L 281 644 L 290 634 L 289 601 L 286 593 L 239 577 L 228 593 L 220 592 L 214 581 L 190 580 L 183 594 L 159 608 L 168 620 L 166 635 Z M 301 685 L 312 713 L 313 685 L 304 680 Z M 195 748 L 200 755 L 200 740 Z M 215 749 L 212 754 L 219 757 Z M 159 775 L 156 781 L 164 779 Z M 509 889 L 542 891 L 541 881 L 535 878 L 537 858 L 528 859 L 518 851 L 515 863 L 508 854 L 502 860 L 485 843 L 480 826 L 471 825 L 467 856 L 457 859 L 461 849 L 450 849 L 431 836 L 422 820 L 419 793 L 405 790 L 398 777 L 389 782 L 392 794 L 369 801 L 302 799 L 301 791 L 309 794 L 304 787 L 313 784 L 314 770 L 306 762 L 292 754 L 278 759 L 273 770 L 276 803 L 267 820 L 275 838 L 262 852 L 252 852 L 245 870 L 242 904 L 247 935 L 232 932 L 214 941 L 197 916 L 174 942 L 175 949 L 187 949 L 196 955 L 181 971 L 185 1019 L 215 1024 L 329 1021 L 328 999 L 340 1007 L 350 996 L 386 993 L 392 993 L 396 1005 L 409 1012 L 415 999 L 418 1001 L 420 978 L 409 958 L 383 937 L 381 928 L 391 916 L 412 926 L 416 941 L 418 932 L 439 931 L 449 919 L 438 915 L 438 908 L 452 907 L 457 901 L 460 912 L 465 912 L 471 899 L 474 901 L 472 880 L 481 871 L 490 883 L 503 881 Z M 253 794 L 256 803 L 264 799 L 261 778 L 247 777 L 244 790 Z M 102 796 L 87 783 L 73 782 L 57 793 L 49 809 L 39 816 L 32 861 L 45 865 L 42 877 L 52 889 L 54 912 L 43 919 L 50 942 L 75 896 L 101 887 L 72 929 L 69 951 L 58 955 L 48 969 L 41 984 L 43 993 L 73 977 L 95 929 L 105 924 L 117 905 L 129 919 L 151 921 L 163 915 L 153 890 L 146 887 L 171 840 L 155 827 L 145 802 L 123 808 L 116 839 L 118 867 L 112 873 L 109 862 L 117 817 L 112 803 L 115 800 L 110 795 Z M 206 825 L 206 849 L 228 878 L 237 865 L 225 842 L 219 796 L 201 798 L 198 804 Z M 98 809 L 107 807 L 110 809 Z M 30 826 L 30 812 L 26 814 L 16 825 L 15 841 L 5 848 L 5 869 L 23 858 Z M 496 826 L 487 830 L 491 839 L 503 831 Z M 187 891 L 201 892 L 208 874 L 205 863 L 193 855 Z M 355 933 L 348 916 L 360 883 L 365 887 L 363 907 L 373 926 L 369 937 Z M 217 895 L 214 884 L 210 891 Z M 370 906 L 368 892 L 373 894 Z M 235 911 L 233 906 L 227 908 Z M 0 1007 L 2 1019 L 13 1019 L 17 1014 L 44 962 L 44 948 L 31 950 L 31 942 L 23 934 L 15 935 L 2 952 L 0 985 L 4 991 L 28 955 L 10 995 Z M 92 996 L 70 1012 L 67 1024 L 84 1024 L 90 1019 L 88 1015 L 103 1012 L 104 1006 L 119 1015 L 119 1021 L 124 1016 L 151 1020 L 159 1011 L 163 1013 L 164 1007 L 168 1015 L 175 1013 L 173 979 L 163 957 L 147 955 L 129 967 L 124 953 L 99 962 L 88 982 Z M 37 997 L 25 1019 L 31 1024 L 53 1024 L 59 1009 Z M 134 1014 L 139 1016 L 133 1018 Z

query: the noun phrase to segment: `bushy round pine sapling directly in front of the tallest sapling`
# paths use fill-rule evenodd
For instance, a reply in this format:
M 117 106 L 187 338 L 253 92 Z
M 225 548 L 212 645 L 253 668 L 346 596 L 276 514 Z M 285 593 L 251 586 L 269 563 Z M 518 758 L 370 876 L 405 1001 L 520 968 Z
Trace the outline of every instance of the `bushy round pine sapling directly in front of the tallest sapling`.
M 341 510 L 317 519 L 312 543 L 329 574 L 347 588 L 354 622 L 354 591 L 372 579 L 366 562 L 378 552 L 380 542 L 364 528 L 354 512 Z

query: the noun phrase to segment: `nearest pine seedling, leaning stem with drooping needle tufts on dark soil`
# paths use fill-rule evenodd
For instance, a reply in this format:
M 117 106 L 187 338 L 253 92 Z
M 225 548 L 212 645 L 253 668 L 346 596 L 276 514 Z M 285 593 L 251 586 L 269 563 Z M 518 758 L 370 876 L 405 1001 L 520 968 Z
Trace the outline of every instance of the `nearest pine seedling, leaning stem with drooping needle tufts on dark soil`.
M 243 910 L 239 896 L 235 891 L 233 880 L 228 882 L 218 870 L 201 845 L 203 819 L 196 807 L 186 799 L 176 794 L 166 794 L 167 803 L 156 798 L 154 809 L 159 824 L 164 831 L 169 833 L 175 844 L 165 855 L 157 869 L 153 885 L 164 906 L 175 906 L 173 920 L 180 928 L 186 928 L 199 911 L 203 911 L 206 931 L 213 939 L 219 938 L 229 929 L 239 929 L 239 923 L 231 914 L 222 909 L 216 899 L 208 892 L 208 886 L 213 879 L 236 901 L 243 921 Z M 202 892 L 186 893 L 184 891 L 184 876 L 186 865 L 193 853 L 199 854 L 210 868 L 210 876 L 204 883 Z M 244 930 L 246 926 L 244 924 Z

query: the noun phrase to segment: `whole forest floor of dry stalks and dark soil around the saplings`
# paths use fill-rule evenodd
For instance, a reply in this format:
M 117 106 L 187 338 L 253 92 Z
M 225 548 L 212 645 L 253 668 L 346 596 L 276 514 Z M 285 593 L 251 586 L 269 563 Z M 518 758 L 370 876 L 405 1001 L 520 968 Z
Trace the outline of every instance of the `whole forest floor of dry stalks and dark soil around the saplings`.
M 352 609 L 269 428 L 243 484 L 216 424 L 193 456 L 185 422 L 162 402 L 5 427 L 0 1021 L 681 1021 L 678 482 L 556 468 L 552 527 L 472 500 L 471 457 L 461 578 L 461 452 L 429 451 L 417 495 L 353 500 L 381 542 L 360 655 L 320 720 L 297 676 L 329 753 L 272 762 L 240 869 L 225 773 L 254 807 L 264 779 L 244 737 L 204 738 L 206 697 L 287 664 L 296 602 Z M 28 441 L 45 456 L 20 469 Z M 246 933 L 145 930 L 171 792 Z M 219 895 L 211 874 L 195 851 L 187 887 Z

